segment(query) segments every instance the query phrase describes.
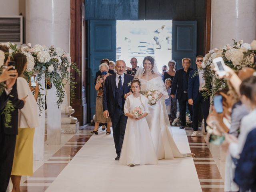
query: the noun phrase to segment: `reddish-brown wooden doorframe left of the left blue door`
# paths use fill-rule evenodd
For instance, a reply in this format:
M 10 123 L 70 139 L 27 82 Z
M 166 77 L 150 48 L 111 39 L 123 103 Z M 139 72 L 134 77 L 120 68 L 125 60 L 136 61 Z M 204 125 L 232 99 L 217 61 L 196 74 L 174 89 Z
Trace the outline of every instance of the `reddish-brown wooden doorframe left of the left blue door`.
M 76 62 L 78 69 L 81 71 L 79 76 L 74 71 L 71 71 L 75 78 L 76 96 L 72 107 L 75 110 L 73 114 L 80 126 L 86 124 L 86 93 L 85 93 L 85 40 L 82 34 L 85 31 L 85 6 L 84 0 L 70 0 L 70 56 L 72 62 Z

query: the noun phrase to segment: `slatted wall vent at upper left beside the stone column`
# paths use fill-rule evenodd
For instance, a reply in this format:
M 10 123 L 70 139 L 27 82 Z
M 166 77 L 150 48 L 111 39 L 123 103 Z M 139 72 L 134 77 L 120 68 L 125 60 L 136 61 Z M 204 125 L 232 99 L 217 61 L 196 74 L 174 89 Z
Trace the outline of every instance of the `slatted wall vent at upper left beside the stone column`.
M 0 42 L 23 43 L 22 16 L 0 16 Z

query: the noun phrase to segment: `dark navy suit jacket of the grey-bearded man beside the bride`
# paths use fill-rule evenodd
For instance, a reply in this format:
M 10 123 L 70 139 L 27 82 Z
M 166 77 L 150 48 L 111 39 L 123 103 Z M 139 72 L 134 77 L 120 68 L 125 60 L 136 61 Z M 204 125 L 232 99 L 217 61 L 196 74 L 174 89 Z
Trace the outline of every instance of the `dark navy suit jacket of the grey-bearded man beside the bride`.
M 128 83 L 131 82 L 133 76 L 124 74 L 124 92 L 122 94 L 123 104 L 124 94 L 130 92 L 130 86 Z M 103 111 L 108 110 L 110 117 L 114 114 L 114 110 L 116 108 L 115 102 L 115 86 L 116 86 L 116 74 L 112 74 L 107 76 L 104 84 L 104 92 L 103 92 Z

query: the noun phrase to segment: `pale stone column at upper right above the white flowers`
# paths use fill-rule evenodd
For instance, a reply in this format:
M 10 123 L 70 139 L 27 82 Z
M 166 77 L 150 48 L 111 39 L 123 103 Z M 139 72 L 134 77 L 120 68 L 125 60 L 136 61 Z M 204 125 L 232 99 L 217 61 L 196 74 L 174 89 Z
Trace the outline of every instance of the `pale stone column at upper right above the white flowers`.
M 255 0 L 212 0 L 212 49 L 256 39 Z

